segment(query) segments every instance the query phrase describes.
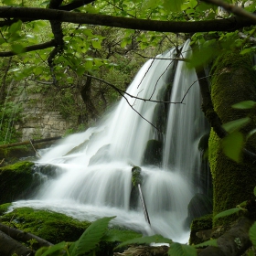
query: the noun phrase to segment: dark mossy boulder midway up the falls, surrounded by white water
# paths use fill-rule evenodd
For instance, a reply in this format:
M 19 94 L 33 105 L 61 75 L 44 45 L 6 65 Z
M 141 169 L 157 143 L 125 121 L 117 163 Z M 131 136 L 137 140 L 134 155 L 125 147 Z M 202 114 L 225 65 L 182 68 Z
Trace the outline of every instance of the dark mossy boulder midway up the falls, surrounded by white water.
M 157 140 L 149 140 L 144 151 L 144 165 L 162 165 L 163 143 Z

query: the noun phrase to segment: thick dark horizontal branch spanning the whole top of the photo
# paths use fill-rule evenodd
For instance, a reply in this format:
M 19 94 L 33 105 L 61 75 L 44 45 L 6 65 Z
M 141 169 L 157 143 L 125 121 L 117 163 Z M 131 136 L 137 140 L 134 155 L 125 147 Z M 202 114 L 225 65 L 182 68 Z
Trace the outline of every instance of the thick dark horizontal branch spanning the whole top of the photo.
M 74 24 L 91 24 L 108 27 L 122 27 L 141 29 L 146 31 L 196 33 L 208 31 L 235 31 L 241 27 L 249 27 L 256 24 L 256 20 L 242 17 L 229 17 L 226 19 L 178 22 L 137 19 L 120 16 L 106 16 L 97 14 L 85 14 L 67 12 L 56 9 L 28 8 L 28 7 L 0 7 L 0 18 L 19 18 L 29 20 L 57 20 Z

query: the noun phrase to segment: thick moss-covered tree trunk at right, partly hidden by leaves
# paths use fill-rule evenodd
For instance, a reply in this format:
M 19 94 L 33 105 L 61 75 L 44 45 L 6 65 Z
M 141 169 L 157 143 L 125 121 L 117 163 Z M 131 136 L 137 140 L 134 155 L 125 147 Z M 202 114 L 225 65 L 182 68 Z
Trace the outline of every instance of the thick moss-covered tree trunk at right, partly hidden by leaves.
M 219 56 L 211 69 L 211 100 L 214 111 L 219 115 L 221 123 L 250 116 L 251 122 L 240 130 L 244 135 L 256 127 L 255 108 L 237 110 L 232 105 L 240 101 L 256 101 L 256 75 L 252 67 L 251 56 L 232 52 Z M 223 153 L 221 143 L 222 140 L 212 129 L 208 156 L 214 189 L 213 215 L 235 208 L 250 199 L 256 186 L 253 161 L 247 155 L 242 156 L 240 163 L 232 161 Z M 244 147 L 255 154 L 255 144 L 255 136 L 252 136 Z

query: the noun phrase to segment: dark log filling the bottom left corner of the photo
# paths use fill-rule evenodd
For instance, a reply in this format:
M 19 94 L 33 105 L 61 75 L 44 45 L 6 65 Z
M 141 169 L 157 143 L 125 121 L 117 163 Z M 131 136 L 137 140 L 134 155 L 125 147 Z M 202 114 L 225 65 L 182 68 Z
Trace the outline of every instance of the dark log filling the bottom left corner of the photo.
M 0 255 L 10 256 L 14 253 L 19 256 L 35 255 L 35 251 L 27 249 L 26 246 L 7 236 L 4 232 L 0 231 Z

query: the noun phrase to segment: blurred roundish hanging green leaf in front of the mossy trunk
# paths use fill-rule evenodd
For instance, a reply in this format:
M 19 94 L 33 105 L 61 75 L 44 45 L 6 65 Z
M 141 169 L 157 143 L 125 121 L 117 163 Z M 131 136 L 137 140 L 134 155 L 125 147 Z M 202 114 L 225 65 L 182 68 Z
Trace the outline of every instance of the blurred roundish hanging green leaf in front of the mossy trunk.
M 233 161 L 240 162 L 243 144 L 244 138 L 242 133 L 230 133 L 222 140 L 223 152 Z

